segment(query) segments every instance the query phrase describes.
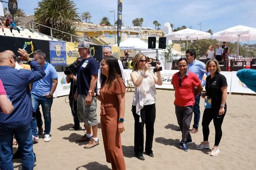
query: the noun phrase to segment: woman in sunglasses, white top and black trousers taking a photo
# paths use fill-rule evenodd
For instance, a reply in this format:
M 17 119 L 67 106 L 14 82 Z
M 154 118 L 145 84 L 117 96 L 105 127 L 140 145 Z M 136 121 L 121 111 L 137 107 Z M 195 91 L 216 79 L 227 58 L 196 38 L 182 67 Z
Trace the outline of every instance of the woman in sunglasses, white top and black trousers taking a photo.
M 134 116 L 134 152 L 140 160 L 145 160 L 144 151 L 144 124 L 146 124 L 145 151 L 148 156 L 154 157 L 152 142 L 155 123 L 155 84 L 162 85 L 161 72 L 157 76 L 148 68 L 151 67 L 147 57 L 139 53 L 133 60 L 131 79 L 134 84 L 134 97 L 132 100 L 132 115 Z M 156 68 L 160 66 L 157 65 Z

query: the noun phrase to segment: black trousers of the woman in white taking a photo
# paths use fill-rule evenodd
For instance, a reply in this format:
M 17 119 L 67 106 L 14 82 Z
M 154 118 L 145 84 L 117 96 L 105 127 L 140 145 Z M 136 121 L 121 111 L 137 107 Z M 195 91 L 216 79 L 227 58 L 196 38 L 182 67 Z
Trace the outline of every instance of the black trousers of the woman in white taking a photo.
M 132 114 L 134 117 L 134 152 L 136 156 L 142 156 L 144 150 L 144 124 L 146 125 L 145 151 L 147 154 L 153 152 L 155 104 L 145 105 L 140 112 L 142 122 L 139 122 L 140 116 L 136 114 L 136 106 L 132 106 Z

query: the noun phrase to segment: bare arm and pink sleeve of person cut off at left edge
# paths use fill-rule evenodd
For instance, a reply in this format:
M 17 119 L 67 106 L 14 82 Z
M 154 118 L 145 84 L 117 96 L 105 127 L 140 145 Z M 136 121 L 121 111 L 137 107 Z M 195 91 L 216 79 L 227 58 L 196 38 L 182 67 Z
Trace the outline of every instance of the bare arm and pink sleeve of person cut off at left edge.
M 0 79 L 0 114 L 5 113 L 9 114 L 13 111 L 13 105 L 12 102 L 10 102 L 6 91 L 4 90 L 3 83 Z

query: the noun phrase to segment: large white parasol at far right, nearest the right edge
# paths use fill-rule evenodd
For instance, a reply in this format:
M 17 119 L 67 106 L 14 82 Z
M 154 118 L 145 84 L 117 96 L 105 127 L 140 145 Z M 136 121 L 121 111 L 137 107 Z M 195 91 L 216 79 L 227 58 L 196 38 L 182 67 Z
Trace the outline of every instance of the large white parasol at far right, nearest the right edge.
M 218 41 L 237 41 L 237 57 L 239 56 L 239 42 L 256 40 L 256 28 L 235 26 L 213 34 Z

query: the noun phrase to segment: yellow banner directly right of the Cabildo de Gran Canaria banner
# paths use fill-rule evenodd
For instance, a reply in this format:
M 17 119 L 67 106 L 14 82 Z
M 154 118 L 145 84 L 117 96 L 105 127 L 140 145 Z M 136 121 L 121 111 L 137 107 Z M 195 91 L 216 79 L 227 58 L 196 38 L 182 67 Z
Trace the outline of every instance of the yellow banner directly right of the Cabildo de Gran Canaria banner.
M 80 57 L 78 48 L 78 43 L 66 42 L 66 56 L 67 56 L 67 65 L 72 64 L 76 61 L 76 58 Z

